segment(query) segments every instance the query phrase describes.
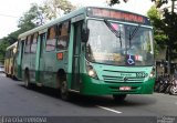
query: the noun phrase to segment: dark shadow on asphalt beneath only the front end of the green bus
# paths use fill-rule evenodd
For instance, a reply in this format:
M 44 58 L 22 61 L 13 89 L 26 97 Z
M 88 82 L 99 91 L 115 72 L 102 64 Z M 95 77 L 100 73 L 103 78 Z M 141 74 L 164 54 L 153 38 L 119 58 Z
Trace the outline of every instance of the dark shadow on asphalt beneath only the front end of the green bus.
M 152 103 L 156 103 L 156 99 L 143 95 L 128 95 L 124 102 L 116 102 L 112 96 L 82 96 L 75 95 L 72 103 L 77 104 L 80 106 L 93 106 L 93 105 L 102 105 L 102 106 L 142 106 L 149 105 Z M 81 98 L 80 98 L 81 96 Z

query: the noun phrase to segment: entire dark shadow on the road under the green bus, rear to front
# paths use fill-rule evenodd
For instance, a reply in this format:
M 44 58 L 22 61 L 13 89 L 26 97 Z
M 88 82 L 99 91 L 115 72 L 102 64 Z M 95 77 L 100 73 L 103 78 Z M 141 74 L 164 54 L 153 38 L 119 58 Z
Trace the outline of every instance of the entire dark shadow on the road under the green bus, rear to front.
M 25 88 L 23 84 L 19 84 L 21 88 Z M 31 91 L 35 91 L 38 93 L 52 96 L 54 99 L 60 99 L 60 92 L 50 88 L 38 88 L 33 86 L 30 89 Z M 115 102 L 112 96 L 86 96 L 80 95 L 76 93 L 72 93 L 72 99 L 70 103 L 75 104 L 77 106 L 92 107 L 95 105 L 102 106 L 142 106 L 149 105 L 156 103 L 156 99 L 153 95 L 127 95 L 124 102 Z

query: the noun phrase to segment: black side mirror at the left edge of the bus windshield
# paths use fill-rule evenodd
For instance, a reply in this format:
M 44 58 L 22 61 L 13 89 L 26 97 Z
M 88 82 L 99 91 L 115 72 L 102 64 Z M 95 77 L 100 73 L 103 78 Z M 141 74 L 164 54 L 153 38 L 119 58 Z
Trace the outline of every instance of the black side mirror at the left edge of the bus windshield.
M 87 29 L 86 24 L 83 24 L 81 32 L 82 42 L 87 42 L 88 35 L 90 35 L 90 29 Z

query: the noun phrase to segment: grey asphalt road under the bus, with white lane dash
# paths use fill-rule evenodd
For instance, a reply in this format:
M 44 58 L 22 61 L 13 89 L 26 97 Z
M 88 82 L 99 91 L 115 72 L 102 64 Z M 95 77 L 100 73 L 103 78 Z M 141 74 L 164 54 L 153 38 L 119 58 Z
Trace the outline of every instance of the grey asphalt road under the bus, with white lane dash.
M 177 95 L 162 93 L 128 95 L 124 103 L 114 102 L 112 96 L 74 95 L 71 102 L 65 102 L 59 98 L 55 90 L 44 88 L 27 90 L 23 82 L 13 81 L 0 73 L 0 115 L 102 119 L 103 116 L 177 116 Z

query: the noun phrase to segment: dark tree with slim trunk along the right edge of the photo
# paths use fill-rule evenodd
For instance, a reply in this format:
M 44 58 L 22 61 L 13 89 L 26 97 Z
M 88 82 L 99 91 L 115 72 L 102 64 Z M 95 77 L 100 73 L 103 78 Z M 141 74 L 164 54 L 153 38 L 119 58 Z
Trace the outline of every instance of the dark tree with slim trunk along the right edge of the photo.
M 164 3 L 168 3 L 169 0 L 152 0 L 155 2 L 157 8 L 160 8 Z M 164 14 L 162 21 L 165 23 L 162 28 L 164 32 L 168 37 L 168 52 L 167 52 L 167 59 L 168 59 L 168 74 L 171 72 L 170 63 L 171 60 L 177 57 L 177 14 L 174 12 L 175 10 L 175 1 L 171 1 L 171 11 L 168 10 L 168 8 L 164 9 Z

